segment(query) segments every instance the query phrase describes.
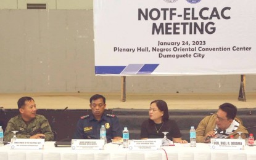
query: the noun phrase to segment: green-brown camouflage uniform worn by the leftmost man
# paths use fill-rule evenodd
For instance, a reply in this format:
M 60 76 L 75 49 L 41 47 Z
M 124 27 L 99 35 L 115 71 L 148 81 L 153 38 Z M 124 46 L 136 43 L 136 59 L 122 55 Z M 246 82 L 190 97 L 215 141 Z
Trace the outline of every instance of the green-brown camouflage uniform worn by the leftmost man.
M 30 138 L 32 135 L 44 134 L 46 136 L 45 141 L 54 140 L 51 126 L 47 119 L 42 115 L 36 114 L 36 117 L 28 124 L 23 121 L 22 116 L 20 115 L 11 118 L 4 132 L 5 142 L 10 142 L 10 139 L 14 137 L 14 134 L 12 133 L 14 130 L 19 131 L 16 133 L 17 138 Z

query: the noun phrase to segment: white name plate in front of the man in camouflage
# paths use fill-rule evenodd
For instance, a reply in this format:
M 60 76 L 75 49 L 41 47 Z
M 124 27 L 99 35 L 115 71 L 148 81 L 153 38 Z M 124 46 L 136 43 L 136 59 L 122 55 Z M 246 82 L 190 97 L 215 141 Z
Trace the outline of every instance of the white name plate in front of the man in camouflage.
M 10 149 L 42 150 L 43 148 L 44 139 L 12 138 L 10 140 Z

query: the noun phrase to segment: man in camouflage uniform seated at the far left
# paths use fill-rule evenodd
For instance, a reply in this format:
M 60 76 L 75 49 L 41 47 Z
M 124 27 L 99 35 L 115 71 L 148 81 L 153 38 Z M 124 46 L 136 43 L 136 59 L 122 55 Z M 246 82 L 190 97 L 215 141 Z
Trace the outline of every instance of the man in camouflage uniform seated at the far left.
M 18 100 L 20 114 L 11 118 L 4 132 L 4 141 L 10 142 L 14 137 L 12 131 L 17 130 L 17 138 L 45 138 L 54 140 L 51 126 L 42 115 L 36 114 L 35 101 L 31 97 L 22 97 Z

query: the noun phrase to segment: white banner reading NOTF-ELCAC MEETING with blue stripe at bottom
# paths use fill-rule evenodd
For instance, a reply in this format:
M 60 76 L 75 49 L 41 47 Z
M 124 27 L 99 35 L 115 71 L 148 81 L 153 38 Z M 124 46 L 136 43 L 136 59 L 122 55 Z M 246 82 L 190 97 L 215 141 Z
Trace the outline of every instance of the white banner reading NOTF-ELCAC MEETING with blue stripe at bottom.
M 94 0 L 95 73 L 256 73 L 256 1 Z

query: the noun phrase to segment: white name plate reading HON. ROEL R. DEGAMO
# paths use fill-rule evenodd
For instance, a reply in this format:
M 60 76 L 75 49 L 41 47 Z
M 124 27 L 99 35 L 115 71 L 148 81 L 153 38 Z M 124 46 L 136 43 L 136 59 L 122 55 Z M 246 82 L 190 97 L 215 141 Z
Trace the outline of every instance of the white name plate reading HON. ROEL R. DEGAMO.
M 213 150 L 244 150 L 245 140 L 240 139 L 211 139 Z

